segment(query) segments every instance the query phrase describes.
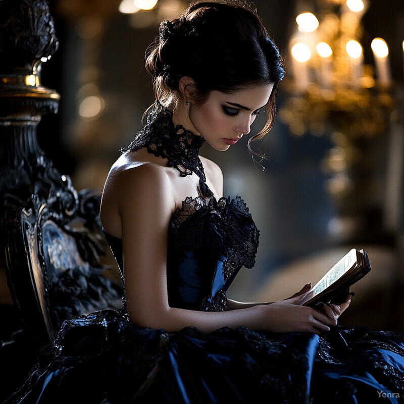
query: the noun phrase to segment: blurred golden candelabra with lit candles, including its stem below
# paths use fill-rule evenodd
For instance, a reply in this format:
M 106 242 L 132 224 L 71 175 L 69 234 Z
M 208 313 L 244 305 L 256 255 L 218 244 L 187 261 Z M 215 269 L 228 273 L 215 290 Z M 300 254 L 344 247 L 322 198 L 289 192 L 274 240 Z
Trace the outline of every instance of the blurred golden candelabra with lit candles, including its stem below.
M 287 97 L 279 108 L 293 135 L 330 136 L 333 147 L 322 168 L 330 175 L 326 190 L 337 214 L 329 230 L 345 241 L 363 235 L 382 211 L 383 201 L 375 197 L 383 193 L 378 147 L 394 107 L 383 38 L 365 49 L 374 61 L 365 63 L 361 20 L 369 7 L 366 0 L 317 0 L 314 10 L 301 10 L 289 43 Z

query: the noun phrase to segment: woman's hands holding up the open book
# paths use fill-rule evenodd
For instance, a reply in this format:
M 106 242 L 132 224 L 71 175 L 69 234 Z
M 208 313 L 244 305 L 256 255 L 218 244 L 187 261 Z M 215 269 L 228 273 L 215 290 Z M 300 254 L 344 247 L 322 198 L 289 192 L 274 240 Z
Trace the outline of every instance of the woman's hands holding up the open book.
M 266 329 L 272 332 L 298 331 L 320 334 L 337 325 L 338 317 L 349 306 L 350 295 L 342 305 L 324 305 L 324 310 L 319 311 L 302 306 L 308 292 L 266 306 L 267 312 L 264 319 Z

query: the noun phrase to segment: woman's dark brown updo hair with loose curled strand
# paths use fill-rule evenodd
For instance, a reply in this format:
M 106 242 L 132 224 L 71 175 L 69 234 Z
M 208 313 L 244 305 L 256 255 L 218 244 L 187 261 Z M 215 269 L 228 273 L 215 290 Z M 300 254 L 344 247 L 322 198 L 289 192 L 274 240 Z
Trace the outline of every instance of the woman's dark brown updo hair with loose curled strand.
M 163 21 L 159 32 L 146 51 L 146 69 L 163 105 L 176 105 L 183 76 L 195 81 L 193 100 L 198 104 L 212 90 L 233 93 L 274 83 L 266 106 L 266 125 L 249 141 L 268 133 L 284 69 L 278 48 L 255 10 L 241 0 L 193 1 L 179 18 Z M 249 143 L 248 147 L 251 150 Z

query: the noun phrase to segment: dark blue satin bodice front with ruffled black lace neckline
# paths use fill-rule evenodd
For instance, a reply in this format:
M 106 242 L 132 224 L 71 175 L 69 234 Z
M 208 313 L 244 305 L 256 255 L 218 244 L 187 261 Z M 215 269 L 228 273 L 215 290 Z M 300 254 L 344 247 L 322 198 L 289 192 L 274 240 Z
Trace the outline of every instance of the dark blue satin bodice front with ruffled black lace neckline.
M 242 266 L 255 264 L 259 231 L 244 201 L 186 198 L 172 216 L 167 281 L 172 307 L 224 311 Z

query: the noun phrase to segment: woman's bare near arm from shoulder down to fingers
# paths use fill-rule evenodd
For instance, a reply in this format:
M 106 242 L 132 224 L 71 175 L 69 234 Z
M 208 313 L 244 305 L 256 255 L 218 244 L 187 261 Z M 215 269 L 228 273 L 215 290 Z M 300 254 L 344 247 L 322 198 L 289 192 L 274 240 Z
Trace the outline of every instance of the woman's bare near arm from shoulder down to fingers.
M 151 164 L 124 171 L 117 181 L 127 306 L 135 324 L 167 331 L 194 326 L 205 333 L 224 326 L 320 333 L 336 324 L 334 317 L 302 307 L 296 298 L 219 313 L 171 308 L 167 235 L 175 204 L 170 181 Z

